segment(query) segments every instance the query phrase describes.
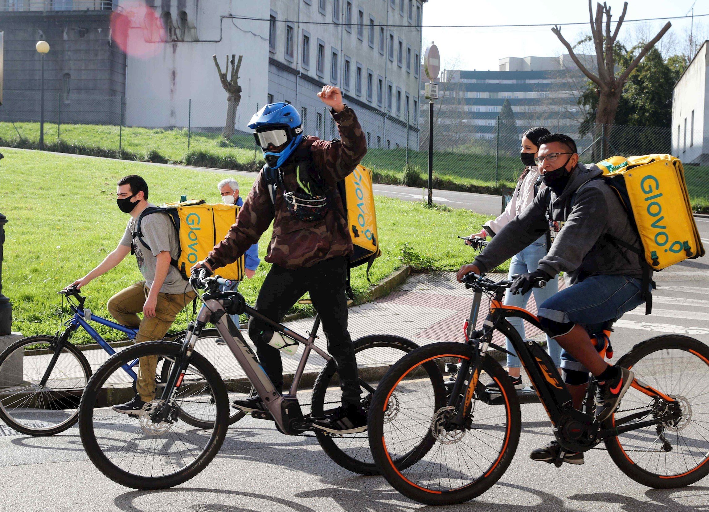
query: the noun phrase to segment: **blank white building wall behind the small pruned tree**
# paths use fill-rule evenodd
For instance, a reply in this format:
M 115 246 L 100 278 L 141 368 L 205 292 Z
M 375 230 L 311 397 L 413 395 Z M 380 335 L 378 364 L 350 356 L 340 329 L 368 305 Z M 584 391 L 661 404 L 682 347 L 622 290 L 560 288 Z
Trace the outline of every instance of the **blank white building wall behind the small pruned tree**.
M 121 0 L 116 9 L 130 18 L 125 59 L 125 123 L 186 127 L 189 122 L 193 127 L 223 127 L 226 92 L 212 55 L 217 56 L 225 71 L 226 56 L 235 54 L 237 58 L 243 55 L 236 127 L 247 130 L 246 124 L 257 104 L 266 101 L 268 23 L 240 18 L 267 19 L 268 2 L 154 3 L 151 10 L 140 10 L 135 8 L 136 2 Z M 189 121 L 188 115 L 191 115 Z

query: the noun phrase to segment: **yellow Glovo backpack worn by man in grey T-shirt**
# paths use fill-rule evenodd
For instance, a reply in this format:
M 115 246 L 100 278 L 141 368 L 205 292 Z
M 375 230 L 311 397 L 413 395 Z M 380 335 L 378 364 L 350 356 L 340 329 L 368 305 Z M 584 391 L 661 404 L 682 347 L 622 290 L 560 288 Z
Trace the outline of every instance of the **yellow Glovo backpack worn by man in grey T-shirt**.
M 140 232 L 140 222 L 145 215 L 152 213 L 167 214 L 177 230 L 180 254 L 172 264 L 178 268 L 185 279 L 189 278 L 189 269 L 198 261 L 207 257 L 209 251 L 223 239 L 229 228 L 236 222 L 241 209 L 236 205 L 208 205 L 204 200 L 189 200 L 182 203 L 167 203 L 164 206 L 147 207 L 140 212 L 135 223 L 133 238 L 150 249 Z M 214 269 L 215 275 L 225 279 L 242 280 L 244 278 L 244 256 L 234 263 Z

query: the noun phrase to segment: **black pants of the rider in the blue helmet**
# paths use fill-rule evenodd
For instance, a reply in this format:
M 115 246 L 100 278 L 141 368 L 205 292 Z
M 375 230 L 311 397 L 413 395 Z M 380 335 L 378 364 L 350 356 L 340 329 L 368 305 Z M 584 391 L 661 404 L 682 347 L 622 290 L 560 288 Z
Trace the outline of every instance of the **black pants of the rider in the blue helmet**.
M 320 261 L 308 268 L 288 269 L 271 266 L 264 280 L 256 309 L 264 317 L 280 322 L 284 314 L 305 292 L 310 292 L 313 306 L 320 314 L 323 331 L 328 339 L 328 352 L 337 363 L 342 389 L 342 404 L 359 404 L 357 360 L 350 333 L 347 332 L 347 258 L 344 256 Z M 279 389 L 283 387 L 283 363 L 277 348 L 263 339 L 269 326 L 252 317 L 249 336 L 256 344 L 256 353 L 267 375 Z

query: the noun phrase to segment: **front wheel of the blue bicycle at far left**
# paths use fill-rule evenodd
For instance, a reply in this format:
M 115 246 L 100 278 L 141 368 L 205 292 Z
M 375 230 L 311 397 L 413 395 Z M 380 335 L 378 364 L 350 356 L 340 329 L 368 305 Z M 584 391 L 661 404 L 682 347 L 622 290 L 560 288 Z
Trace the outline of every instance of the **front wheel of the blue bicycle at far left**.
M 0 418 L 28 436 L 53 436 L 74 425 L 91 377 L 84 355 L 55 336 L 28 336 L 0 354 Z

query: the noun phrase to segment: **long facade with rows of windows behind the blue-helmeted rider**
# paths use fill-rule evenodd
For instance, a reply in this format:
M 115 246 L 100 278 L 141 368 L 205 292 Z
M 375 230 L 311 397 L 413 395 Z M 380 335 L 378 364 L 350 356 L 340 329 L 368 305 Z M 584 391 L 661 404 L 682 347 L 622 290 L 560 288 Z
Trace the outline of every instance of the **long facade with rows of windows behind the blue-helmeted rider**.
M 296 106 L 306 134 L 337 137 L 316 96 L 335 85 L 369 147 L 418 147 L 423 1 L 271 0 L 269 103 Z

